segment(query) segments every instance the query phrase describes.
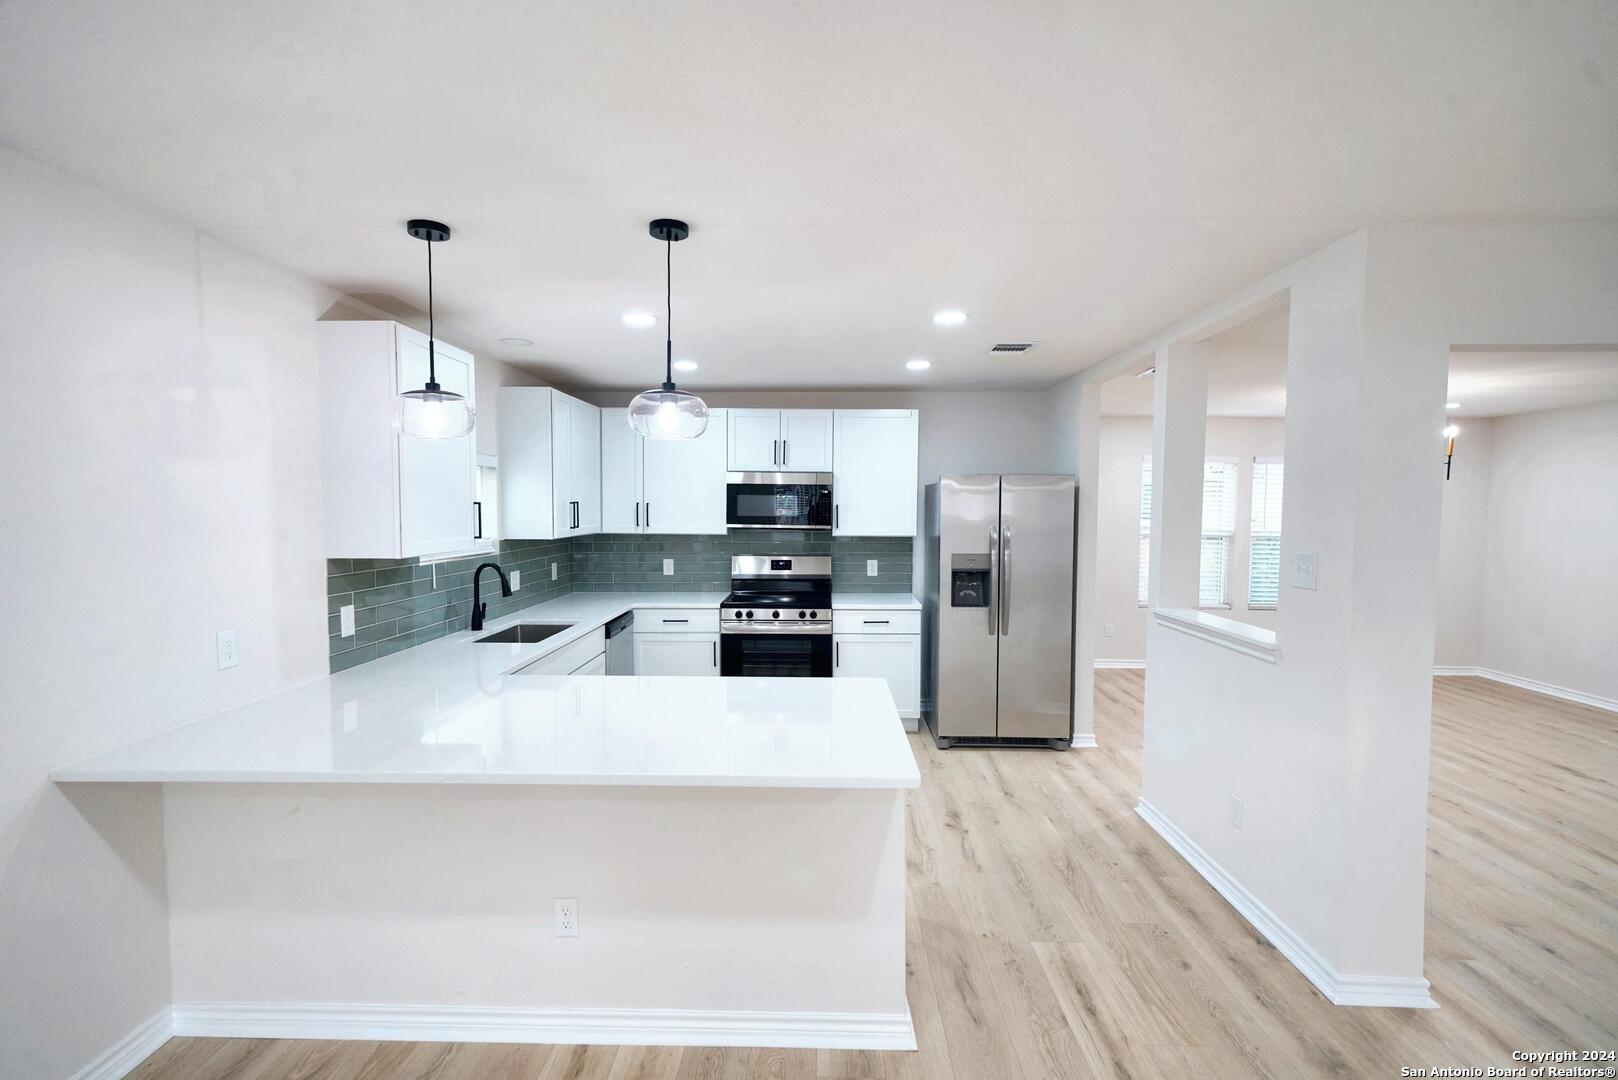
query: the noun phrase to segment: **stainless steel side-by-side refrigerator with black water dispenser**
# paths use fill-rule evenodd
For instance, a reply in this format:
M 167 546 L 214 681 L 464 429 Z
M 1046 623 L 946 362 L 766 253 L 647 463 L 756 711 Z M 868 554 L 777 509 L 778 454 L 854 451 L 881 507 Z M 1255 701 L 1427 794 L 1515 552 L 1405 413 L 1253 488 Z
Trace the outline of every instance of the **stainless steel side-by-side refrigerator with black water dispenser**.
M 1073 740 L 1071 476 L 927 484 L 922 698 L 940 746 Z

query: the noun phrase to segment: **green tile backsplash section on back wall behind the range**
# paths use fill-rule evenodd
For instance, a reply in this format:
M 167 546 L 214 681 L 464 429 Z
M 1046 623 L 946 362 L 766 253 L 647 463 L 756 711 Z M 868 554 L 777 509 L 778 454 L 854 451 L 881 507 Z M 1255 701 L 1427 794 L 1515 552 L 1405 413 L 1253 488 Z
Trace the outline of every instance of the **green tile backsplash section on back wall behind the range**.
M 581 536 L 573 541 L 579 593 L 730 589 L 731 555 L 830 555 L 833 593 L 911 589 L 911 538 L 838 536 L 791 529 L 731 529 L 728 536 Z M 673 575 L 663 560 L 675 560 Z M 866 576 L 866 560 L 877 576 Z

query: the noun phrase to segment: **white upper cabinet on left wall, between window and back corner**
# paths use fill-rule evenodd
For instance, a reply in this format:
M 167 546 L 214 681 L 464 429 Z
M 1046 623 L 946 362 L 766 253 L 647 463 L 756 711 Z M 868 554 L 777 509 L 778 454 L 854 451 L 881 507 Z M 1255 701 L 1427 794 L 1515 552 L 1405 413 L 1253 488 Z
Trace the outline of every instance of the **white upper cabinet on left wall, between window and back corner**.
M 602 416 L 552 387 L 500 387 L 500 531 L 561 539 L 602 528 Z

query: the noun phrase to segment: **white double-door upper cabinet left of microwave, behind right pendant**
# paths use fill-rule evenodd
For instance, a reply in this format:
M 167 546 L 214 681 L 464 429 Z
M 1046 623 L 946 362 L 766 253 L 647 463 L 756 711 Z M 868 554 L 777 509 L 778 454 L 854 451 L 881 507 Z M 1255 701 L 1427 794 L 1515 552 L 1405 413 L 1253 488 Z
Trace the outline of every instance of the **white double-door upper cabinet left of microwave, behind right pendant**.
M 600 531 L 723 536 L 731 415 L 715 408 L 697 439 L 662 440 L 637 436 L 626 410 L 600 410 Z

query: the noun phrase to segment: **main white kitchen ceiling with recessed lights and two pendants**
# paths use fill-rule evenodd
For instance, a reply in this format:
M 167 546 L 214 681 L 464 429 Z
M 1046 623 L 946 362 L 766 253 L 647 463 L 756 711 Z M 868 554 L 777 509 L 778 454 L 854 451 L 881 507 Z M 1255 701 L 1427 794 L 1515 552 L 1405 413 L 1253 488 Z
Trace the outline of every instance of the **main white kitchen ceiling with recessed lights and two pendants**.
M 422 306 L 403 220 L 442 219 L 463 343 L 581 387 L 659 372 L 618 316 L 660 308 L 665 214 L 697 389 L 1044 387 L 1366 222 L 1618 215 L 1612 0 L 3 19 L 0 138 L 374 301 Z

